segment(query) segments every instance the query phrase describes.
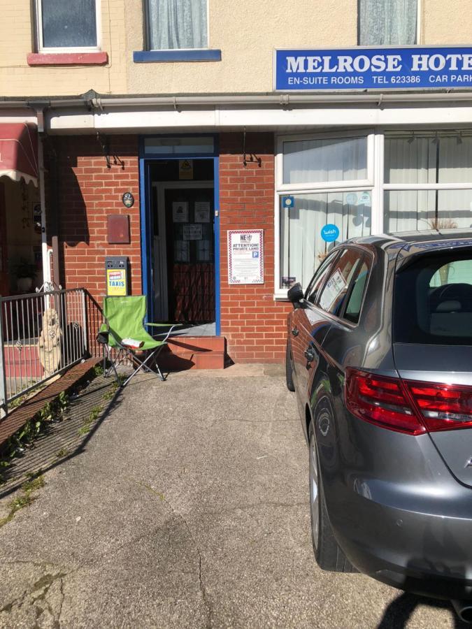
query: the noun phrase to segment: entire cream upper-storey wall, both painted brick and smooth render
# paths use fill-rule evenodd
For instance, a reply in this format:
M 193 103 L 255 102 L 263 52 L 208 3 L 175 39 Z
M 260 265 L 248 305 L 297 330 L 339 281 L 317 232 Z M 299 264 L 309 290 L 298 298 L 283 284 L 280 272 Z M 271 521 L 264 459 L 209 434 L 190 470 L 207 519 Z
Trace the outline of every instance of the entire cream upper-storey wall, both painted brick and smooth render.
M 135 64 L 143 0 L 100 1 L 106 66 L 29 67 L 31 1 L 0 0 L 0 96 L 271 92 L 274 48 L 357 43 L 357 0 L 209 0 L 209 43 L 221 62 Z M 472 0 L 421 1 L 422 44 L 471 42 Z

